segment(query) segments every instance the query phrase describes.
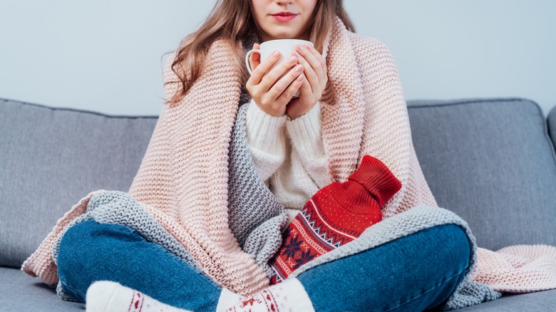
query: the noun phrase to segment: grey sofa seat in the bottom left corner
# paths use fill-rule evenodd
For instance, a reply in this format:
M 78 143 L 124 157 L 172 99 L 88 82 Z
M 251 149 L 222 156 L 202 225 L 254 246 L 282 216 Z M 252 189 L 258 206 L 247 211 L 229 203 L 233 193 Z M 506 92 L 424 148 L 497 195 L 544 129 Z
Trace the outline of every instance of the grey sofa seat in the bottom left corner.
M 62 301 L 54 288 L 19 269 L 0 267 L 0 311 L 82 312 L 84 307 L 82 303 Z

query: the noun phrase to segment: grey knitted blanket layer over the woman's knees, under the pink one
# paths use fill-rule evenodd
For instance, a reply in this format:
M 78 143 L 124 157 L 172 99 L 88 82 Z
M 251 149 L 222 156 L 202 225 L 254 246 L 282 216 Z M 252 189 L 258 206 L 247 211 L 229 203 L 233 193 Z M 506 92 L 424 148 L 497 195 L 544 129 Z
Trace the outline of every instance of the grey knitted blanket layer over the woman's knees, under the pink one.
M 230 142 L 228 181 L 230 229 L 235 234 L 242 249 L 252 254 L 257 264 L 262 266 L 267 275 L 270 276 L 272 270 L 268 261 L 282 244 L 282 229 L 287 222 L 287 214 L 283 205 L 264 185 L 256 167 L 254 167 L 245 136 L 245 116 L 247 115 L 248 105 L 244 104 L 240 107 Z M 93 196 L 88 202 L 86 214 L 74 219 L 58 236 L 52 250 L 56 264 L 63 234 L 74 224 L 90 219 L 99 223 L 121 224 L 132 227 L 148 241 L 163 246 L 182 261 L 198 269 L 195 259 L 185 249 L 185 246 L 182 246 L 153 217 L 150 217 L 139 202 L 124 192 L 116 191 L 100 192 Z M 301 266 L 292 274 L 292 277 L 298 276 L 319 264 L 372 249 L 400 237 L 441 224 L 456 224 L 461 227 L 468 236 L 470 246 L 472 246 L 468 273 L 443 308 L 445 310 L 463 308 L 499 298 L 500 293 L 493 291 L 484 284 L 478 284 L 470 280 L 470 274 L 473 272 L 477 261 L 477 245 L 468 225 L 453 212 L 427 206 L 414 207 L 406 212 L 384 219 L 379 224 L 367 229 L 359 239 L 344 244 L 338 249 L 334 249 L 328 254 Z M 63 293 L 60 284 L 58 284 L 58 294 L 66 300 L 69 299 Z

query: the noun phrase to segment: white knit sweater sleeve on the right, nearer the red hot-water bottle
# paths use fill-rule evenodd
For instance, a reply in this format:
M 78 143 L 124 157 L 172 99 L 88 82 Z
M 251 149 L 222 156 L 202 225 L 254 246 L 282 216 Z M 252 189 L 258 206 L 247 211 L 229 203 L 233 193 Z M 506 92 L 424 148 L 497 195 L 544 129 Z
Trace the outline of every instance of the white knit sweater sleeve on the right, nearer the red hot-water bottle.
M 322 143 L 322 116 L 320 103 L 302 117 L 286 122 L 287 132 L 292 140 L 292 153 L 299 157 L 307 174 L 319 187 L 331 183 Z

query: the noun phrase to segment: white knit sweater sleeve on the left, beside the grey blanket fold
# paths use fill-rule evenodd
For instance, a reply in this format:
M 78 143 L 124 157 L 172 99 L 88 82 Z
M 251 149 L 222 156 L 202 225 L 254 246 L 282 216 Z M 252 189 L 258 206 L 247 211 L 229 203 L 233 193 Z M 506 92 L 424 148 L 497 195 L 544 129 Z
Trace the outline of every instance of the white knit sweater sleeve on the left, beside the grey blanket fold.
M 261 179 L 267 183 L 286 157 L 285 123 L 287 116 L 264 113 L 251 100 L 246 116 L 247 144 Z

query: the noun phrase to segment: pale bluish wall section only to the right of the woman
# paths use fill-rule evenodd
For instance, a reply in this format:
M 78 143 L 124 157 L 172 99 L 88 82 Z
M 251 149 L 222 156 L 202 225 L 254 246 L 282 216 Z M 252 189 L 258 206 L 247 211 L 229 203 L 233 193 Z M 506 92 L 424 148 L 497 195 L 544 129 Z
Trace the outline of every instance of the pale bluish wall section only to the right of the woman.
M 408 99 L 522 97 L 556 105 L 555 0 L 346 0 L 391 49 Z

